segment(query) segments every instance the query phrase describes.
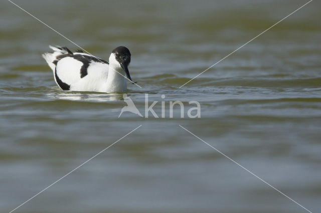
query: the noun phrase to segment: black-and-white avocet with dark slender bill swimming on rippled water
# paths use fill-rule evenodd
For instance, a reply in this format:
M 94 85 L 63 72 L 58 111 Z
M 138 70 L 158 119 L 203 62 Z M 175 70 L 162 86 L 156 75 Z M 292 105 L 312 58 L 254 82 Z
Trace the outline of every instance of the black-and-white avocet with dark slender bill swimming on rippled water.
M 53 53 L 42 56 L 54 72 L 58 86 L 63 90 L 125 92 L 125 75 L 131 80 L 128 65 L 130 52 L 125 46 L 112 50 L 109 62 L 82 50 L 70 51 L 67 47 L 51 46 Z

